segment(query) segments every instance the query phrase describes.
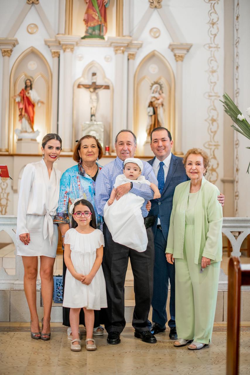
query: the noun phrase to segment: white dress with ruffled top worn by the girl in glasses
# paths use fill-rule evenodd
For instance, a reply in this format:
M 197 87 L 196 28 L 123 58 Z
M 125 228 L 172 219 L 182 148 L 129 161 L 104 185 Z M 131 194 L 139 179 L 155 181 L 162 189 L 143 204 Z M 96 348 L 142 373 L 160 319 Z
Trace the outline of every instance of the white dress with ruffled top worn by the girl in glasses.
M 71 260 L 76 272 L 88 275 L 96 260 L 96 249 L 104 246 L 102 231 L 95 229 L 82 234 L 71 228 L 65 233 L 64 243 L 70 245 Z M 63 307 L 100 310 L 107 307 L 106 284 L 102 266 L 100 266 L 90 285 L 76 280 L 69 270 L 66 271 Z

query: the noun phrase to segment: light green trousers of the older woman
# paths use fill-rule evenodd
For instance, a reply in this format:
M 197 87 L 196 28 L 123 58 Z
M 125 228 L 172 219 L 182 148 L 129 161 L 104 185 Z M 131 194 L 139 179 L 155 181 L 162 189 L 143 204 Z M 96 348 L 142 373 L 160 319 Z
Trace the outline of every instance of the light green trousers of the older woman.
M 194 263 L 194 225 L 186 225 L 183 259 L 175 259 L 175 321 L 178 338 L 209 344 L 213 332 L 220 262 L 202 273 Z

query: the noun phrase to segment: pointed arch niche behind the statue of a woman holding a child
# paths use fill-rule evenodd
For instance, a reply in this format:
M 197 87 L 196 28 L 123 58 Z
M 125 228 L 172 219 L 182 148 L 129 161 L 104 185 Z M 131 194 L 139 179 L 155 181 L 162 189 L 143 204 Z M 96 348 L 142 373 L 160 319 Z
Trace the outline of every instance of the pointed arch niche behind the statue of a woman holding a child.
M 134 131 L 138 137 L 138 155 L 148 155 L 150 150 L 147 140 L 147 102 L 150 96 L 150 86 L 160 82 L 163 87 L 164 126 L 174 137 L 175 122 L 175 78 L 173 69 L 166 58 L 157 51 L 146 55 L 139 63 L 134 76 Z

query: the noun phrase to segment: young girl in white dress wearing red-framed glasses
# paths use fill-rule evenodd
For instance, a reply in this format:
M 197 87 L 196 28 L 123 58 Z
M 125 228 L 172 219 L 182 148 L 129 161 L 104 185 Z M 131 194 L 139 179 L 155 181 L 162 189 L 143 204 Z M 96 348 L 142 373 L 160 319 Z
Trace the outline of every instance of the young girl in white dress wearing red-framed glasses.
M 107 307 L 106 284 L 102 271 L 104 238 L 96 229 L 96 215 L 90 202 L 76 199 L 69 209 L 72 228 L 64 237 L 64 261 L 67 266 L 63 307 L 70 308 L 72 351 L 81 350 L 79 312 L 84 309 L 86 349 L 96 350 L 93 339 L 94 310 Z

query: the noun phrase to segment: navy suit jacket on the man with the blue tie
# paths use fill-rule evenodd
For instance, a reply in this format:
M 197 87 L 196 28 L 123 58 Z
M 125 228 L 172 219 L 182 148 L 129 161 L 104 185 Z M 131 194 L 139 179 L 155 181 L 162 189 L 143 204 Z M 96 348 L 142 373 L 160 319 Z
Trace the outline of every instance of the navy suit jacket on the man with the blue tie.
M 153 165 L 154 159 L 148 160 L 150 165 Z M 181 182 L 187 181 L 189 178 L 186 175 L 186 169 L 184 168 L 182 157 L 175 156 L 172 154 L 170 165 L 168 169 L 168 175 L 162 190 L 160 199 L 152 199 L 151 210 L 148 216 L 155 216 L 156 221 L 152 227 L 154 235 L 156 234 L 157 217 L 160 217 L 160 225 L 162 227 L 162 234 L 167 241 L 170 215 L 173 205 L 173 196 L 175 187 Z

